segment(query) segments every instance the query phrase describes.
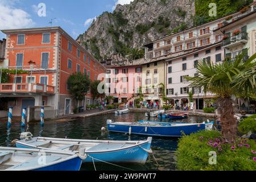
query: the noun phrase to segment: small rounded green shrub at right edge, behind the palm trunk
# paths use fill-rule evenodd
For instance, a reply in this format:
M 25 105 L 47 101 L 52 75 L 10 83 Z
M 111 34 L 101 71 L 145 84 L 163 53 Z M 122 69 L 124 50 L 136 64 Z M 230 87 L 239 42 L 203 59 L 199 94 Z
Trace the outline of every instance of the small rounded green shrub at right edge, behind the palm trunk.
M 239 123 L 238 131 L 241 134 L 247 134 L 250 131 L 256 133 L 256 114 L 243 119 L 243 121 Z

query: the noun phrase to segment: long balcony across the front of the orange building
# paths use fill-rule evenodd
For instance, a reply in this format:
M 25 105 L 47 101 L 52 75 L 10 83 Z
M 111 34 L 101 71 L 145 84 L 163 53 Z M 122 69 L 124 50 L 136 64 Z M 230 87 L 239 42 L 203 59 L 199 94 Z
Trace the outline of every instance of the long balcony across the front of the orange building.
M 44 84 L 0 84 L 0 92 L 2 93 L 46 93 L 55 94 L 55 86 Z

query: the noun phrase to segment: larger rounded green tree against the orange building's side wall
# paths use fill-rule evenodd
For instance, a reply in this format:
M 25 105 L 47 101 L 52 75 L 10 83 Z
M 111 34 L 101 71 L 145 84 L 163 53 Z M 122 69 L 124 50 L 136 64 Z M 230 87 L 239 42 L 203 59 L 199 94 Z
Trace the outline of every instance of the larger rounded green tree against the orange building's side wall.
M 83 73 L 73 73 L 68 78 L 69 92 L 76 101 L 84 100 L 85 94 L 89 90 L 90 78 Z

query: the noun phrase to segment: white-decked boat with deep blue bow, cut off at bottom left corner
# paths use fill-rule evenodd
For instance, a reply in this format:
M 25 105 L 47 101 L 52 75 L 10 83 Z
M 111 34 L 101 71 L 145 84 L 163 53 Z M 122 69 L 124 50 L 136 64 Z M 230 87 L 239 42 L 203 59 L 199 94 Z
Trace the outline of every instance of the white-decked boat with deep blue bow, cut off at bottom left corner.
M 76 152 L 0 147 L 0 171 L 79 171 Z

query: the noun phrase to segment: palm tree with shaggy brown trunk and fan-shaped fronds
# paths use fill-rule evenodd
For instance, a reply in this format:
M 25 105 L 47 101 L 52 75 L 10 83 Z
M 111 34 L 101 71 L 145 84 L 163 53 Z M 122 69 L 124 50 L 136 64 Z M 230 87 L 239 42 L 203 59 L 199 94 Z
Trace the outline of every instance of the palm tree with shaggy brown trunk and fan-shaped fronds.
M 199 61 L 197 72 L 199 76 L 187 77 L 192 81 L 189 87 L 204 88 L 204 93 L 216 94 L 217 114 L 221 119 L 222 136 L 227 142 L 236 141 L 237 120 L 234 118 L 233 97 L 255 93 L 256 54 L 244 60 L 244 54 L 233 60 L 224 60 L 220 64 Z

